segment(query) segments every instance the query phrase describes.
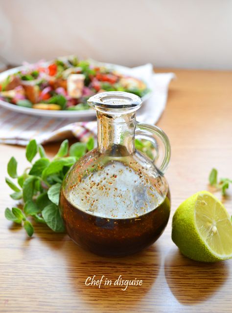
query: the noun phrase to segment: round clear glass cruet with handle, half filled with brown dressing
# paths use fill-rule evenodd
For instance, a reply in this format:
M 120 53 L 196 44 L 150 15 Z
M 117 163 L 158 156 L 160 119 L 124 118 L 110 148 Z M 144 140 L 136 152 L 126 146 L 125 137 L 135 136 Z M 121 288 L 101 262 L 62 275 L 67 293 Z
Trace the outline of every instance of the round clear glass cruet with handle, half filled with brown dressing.
M 93 253 L 136 253 L 154 243 L 168 222 L 170 195 L 163 173 L 169 140 L 158 127 L 136 121 L 142 101 L 134 94 L 103 92 L 88 103 L 96 109 L 97 148 L 67 173 L 61 214 L 71 239 Z M 135 149 L 135 137 L 152 141 L 153 160 Z

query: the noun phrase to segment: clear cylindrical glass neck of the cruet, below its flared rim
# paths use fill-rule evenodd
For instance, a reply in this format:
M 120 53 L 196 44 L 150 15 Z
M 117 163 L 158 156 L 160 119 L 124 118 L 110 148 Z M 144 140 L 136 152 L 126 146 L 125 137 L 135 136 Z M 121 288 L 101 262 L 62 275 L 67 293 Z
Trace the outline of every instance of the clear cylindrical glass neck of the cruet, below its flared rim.
M 100 153 L 127 156 L 135 151 L 135 112 L 108 115 L 97 111 L 97 147 Z

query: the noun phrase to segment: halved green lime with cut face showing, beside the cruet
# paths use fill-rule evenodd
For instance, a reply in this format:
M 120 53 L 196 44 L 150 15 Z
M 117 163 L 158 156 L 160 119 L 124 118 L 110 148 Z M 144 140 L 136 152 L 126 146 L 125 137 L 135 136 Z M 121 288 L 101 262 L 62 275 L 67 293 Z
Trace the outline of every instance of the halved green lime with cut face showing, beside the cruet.
M 208 191 L 186 199 L 172 219 L 172 240 L 188 258 L 215 262 L 232 258 L 232 221 Z

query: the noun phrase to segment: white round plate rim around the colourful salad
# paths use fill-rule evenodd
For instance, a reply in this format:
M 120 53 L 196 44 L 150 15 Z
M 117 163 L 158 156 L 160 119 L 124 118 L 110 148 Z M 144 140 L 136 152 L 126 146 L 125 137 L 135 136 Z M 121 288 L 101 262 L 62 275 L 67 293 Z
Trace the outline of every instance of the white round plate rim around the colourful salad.
M 118 72 L 136 77 L 139 79 L 142 79 L 148 87 L 151 88 L 151 79 L 149 77 L 149 72 L 151 72 L 152 75 L 152 65 L 151 64 L 146 64 L 144 66 L 140 66 L 137 68 L 128 68 L 116 64 L 109 64 L 109 63 L 100 63 L 97 61 L 93 61 L 97 65 L 105 66 L 107 68 L 110 68 L 112 70 L 117 70 Z M 44 65 L 47 66 L 50 62 L 46 62 Z M 0 73 L 0 82 L 3 81 L 7 76 L 14 74 L 16 72 L 22 71 L 25 69 L 25 66 L 18 66 L 13 69 L 4 71 Z M 151 96 L 151 92 L 147 93 L 144 97 L 142 97 L 142 100 L 145 101 Z M 3 100 L 0 100 L 0 106 L 5 107 L 11 111 L 16 111 L 24 114 L 29 114 L 29 115 L 37 115 L 37 116 L 45 116 L 45 117 L 56 117 L 56 118 L 69 118 L 69 119 L 76 119 L 78 117 L 93 117 L 96 115 L 95 110 L 89 109 L 89 110 L 80 110 L 80 111 L 69 111 L 69 110 L 62 110 L 62 111 L 53 111 L 53 110 L 39 110 L 39 109 L 33 109 L 29 107 L 23 107 L 19 106 L 16 104 L 10 104 L 8 102 L 5 102 Z

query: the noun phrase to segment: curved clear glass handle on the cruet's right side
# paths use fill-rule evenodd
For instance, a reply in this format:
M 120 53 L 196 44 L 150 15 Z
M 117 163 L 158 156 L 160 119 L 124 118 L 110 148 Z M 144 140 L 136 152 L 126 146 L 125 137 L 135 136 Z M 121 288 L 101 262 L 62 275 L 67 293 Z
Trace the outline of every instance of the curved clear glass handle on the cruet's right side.
M 154 135 L 158 137 L 158 139 L 160 139 L 163 145 L 163 150 L 164 150 L 163 157 L 162 157 L 162 160 L 160 161 L 161 165 L 160 165 L 160 168 L 158 168 L 158 170 L 161 172 L 161 174 L 164 174 L 168 167 L 168 164 L 170 161 L 170 155 L 171 155 L 171 147 L 170 147 L 170 143 L 169 143 L 169 139 L 167 135 L 165 134 L 163 130 L 161 130 L 157 126 L 137 122 L 135 136 L 138 136 L 142 139 L 146 139 L 152 142 L 156 150 L 156 156 L 154 157 L 152 161 L 156 165 L 157 160 L 160 159 L 160 151 L 159 151 L 160 149 L 159 149 L 158 142 Z

